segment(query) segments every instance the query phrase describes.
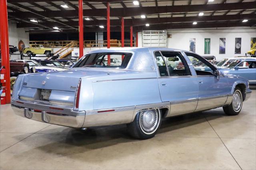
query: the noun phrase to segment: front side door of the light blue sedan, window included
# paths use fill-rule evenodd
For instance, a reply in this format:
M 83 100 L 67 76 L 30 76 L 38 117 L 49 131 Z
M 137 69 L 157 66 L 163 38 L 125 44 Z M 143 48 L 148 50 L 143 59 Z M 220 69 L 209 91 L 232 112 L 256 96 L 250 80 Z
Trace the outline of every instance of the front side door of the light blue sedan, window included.
M 208 61 L 194 53 L 186 53 L 198 80 L 198 105 L 196 111 L 221 107 L 226 103 L 228 94 L 228 81 L 226 77 L 214 75 L 216 68 Z

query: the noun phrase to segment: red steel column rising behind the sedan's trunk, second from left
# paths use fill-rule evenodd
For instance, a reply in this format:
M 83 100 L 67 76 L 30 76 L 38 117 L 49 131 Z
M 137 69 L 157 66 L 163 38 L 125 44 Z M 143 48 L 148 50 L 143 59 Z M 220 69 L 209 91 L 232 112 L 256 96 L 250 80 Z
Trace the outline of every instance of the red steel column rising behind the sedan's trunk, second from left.
M 84 55 L 84 19 L 83 19 L 83 0 L 78 0 L 79 10 L 79 58 Z

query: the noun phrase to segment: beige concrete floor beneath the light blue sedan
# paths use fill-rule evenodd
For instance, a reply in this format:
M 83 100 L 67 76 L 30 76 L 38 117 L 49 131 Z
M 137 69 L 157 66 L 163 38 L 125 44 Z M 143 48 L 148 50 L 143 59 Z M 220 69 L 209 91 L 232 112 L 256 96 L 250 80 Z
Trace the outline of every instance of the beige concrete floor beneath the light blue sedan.
M 256 169 L 256 90 L 238 116 L 222 108 L 163 121 L 149 140 L 125 125 L 81 130 L 0 107 L 0 169 Z

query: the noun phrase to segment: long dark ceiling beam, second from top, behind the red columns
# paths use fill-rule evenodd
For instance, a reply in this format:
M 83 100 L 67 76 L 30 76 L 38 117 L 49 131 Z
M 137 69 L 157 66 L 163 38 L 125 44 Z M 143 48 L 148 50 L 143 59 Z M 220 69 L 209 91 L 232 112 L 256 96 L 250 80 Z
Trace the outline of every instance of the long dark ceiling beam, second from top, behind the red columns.
M 175 22 L 206 22 L 206 21 L 227 21 L 227 20 L 253 20 L 256 18 L 256 14 L 235 14 L 235 15 L 216 15 L 216 16 L 188 16 L 188 17 L 167 17 L 167 18 L 137 18 L 137 19 L 126 19 L 124 24 L 125 26 L 144 26 L 145 23 L 149 24 L 162 24 L 162 23 L 175 23 Z M 63 22 L 65 24 L 68 24 L 70 26 L 78 26 L 78 22 L 72 21 L 72 22 Z M 57 24 L 57 25 L 56 25 Z M 44 25 L 53 27 L 58 26 L 62 27 L 63 25 L 53 22 L 45 22 Z M 99 25 L 106 25 L 106 20 L 90 20 L 85 21 L 85 26 L 99 26 Z M 111 26 L 120 26 L 120 20 L 111 20 Z M 19 23 L 17 24 L 17 28 L 33 28 L 35 27 L 34 24 L 29 23 Z

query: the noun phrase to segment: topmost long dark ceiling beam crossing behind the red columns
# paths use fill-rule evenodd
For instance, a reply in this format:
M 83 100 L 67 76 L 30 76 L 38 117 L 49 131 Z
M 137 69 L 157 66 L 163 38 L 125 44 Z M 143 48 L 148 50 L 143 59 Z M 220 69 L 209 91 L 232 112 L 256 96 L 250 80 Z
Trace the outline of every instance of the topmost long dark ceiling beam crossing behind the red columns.
M 161 13 L 167 12 L 198 12 L 198 11 L 217 11 L 217 10 L 243 10 L 254 9 L 255 2 L 242 2 L 242 3 L 225 3 L 225 4 L 203 4 L 203 5 L 178 5 L 178 6 L 158 6 L 158 11 Z M 42 16 L 47 17 L 72 17 L 77 15 L 77 10 L 65 10 L 65 12 L 51 11 L 51 12 L 37 12 Z M 12 14 L 12 12 L 10 12 Z M 84 10 L 86 16 L 106 16 L 106 10 L 102 9 L 88 9 Z M 137 7 L 129 8 L 114 8 L 111 11 L 111 16 L 140 16 L 141 14 L 158 14 L 155 6 L 141 7 L 139 10 Z M 23 16 L 24 18 L 34 17 L 30 12 L 15 12 L 14 15 Z

